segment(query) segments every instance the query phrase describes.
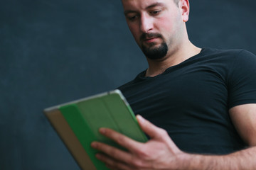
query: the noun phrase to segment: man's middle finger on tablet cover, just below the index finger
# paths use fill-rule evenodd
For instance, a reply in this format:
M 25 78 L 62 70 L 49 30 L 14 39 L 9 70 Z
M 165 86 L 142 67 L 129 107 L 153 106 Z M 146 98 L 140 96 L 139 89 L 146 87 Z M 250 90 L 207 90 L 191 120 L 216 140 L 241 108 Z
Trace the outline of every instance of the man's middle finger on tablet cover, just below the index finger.
M 106 145 L 101 142 L 92 142 L 91 145 L 94 149 L 99 150 L 100 152 L 103 152 L 107 154 L 108 156 L 117 159 L 119 162 L 130 162 L 132 160 L 132 155 L 128 152 L 124 152 L 120 149 L 117 149 L 115 147 L 112 147 L 110 145 Z

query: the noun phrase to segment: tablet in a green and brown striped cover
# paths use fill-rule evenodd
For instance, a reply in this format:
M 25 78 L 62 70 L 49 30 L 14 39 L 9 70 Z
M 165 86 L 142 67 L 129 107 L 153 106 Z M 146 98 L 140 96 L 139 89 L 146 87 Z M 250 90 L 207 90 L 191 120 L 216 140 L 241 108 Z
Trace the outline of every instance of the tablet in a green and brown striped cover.
M 100 135 L 100 128 L 111 128 L 138 142 L 147 141 L 119 90 L 46 108 L 44 113 L 82 170 L 107 170 L 105 164 L 96 159 L 98 151 L 90 147 L 91 142 L 105 142 L 123 149 Z

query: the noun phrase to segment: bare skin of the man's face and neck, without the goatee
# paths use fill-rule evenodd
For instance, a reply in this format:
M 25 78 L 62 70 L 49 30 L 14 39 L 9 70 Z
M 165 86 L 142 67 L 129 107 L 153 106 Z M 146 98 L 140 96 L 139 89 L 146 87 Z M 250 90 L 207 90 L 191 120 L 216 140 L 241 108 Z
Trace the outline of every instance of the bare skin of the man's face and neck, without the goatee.
M 159 60 L 147 58 L 149 68 L 146 77 L 161 74 L 201 51 L 188 40 L 188 0 L 179 1 L 179 7 L 173 0 L 123 0 L 122 4 L 127 25 L 139 47 L 157 48 L 162 42 L 169 47 L 165 57 Z M 146 39 L 142 38 L 144 34 L 148 35 Z M 160 34 L 162 38 L 154 38 L 150 34 Z

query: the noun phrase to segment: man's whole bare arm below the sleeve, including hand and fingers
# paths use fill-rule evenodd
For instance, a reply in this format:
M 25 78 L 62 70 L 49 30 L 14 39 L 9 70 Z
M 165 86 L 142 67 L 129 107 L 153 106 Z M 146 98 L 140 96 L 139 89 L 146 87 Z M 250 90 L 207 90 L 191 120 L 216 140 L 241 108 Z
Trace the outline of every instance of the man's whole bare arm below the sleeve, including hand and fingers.
M 105 162 L 110 169 L 256 169 L 256 104 L 235 106 L 230 109 L 233 120 L 241 137 L 250 146 L 239 152 L 227 155 L 188 154 L 182 152 L 171 140 L 167 132 L 137 116 L 139 125 L 151 140 L 136 142 L 110 129 L 102 128 L 102 135 L 109 137 L 127 152 L 114 147 L 92 142 L 92 147 L 104 154 L 96 157 Z

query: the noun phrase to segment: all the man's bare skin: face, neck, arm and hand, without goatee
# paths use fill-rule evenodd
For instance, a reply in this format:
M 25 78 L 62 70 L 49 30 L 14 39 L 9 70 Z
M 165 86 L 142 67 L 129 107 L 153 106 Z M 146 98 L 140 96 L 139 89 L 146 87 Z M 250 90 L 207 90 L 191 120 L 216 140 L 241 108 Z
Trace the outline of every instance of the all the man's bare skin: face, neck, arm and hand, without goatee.
M 180 0 L 178 6 L 172 0 L 122 0 L 127 25 L 139 47 L 157 49 L 166 42 L 168 52 L 159 59 L 147 58 L 149 69 L 146 77 L 154 77 L 168 67 L 176 65 L 200 52 L 186 32 L 188 0 Z M 161 37 L 155 35 L 160 34 Z M 144 36 L 144 37 L 143 37 Z M 143 37 L 143 38 L 142 38 Z M 256 169 L 256 104 L 230 108 L 230 118 L 247 149 L 227 155 L 202 155 L 182 152 L 167 132 L 137 115 L 142 130 L 151 138 L 146 143 L 136 142 L 113 130 L 101 128 L 100 133 L 117 142 L 127 151 L 92 142 L 98 149 L 97 159 L 110 169 Z

